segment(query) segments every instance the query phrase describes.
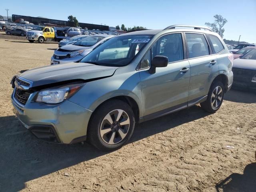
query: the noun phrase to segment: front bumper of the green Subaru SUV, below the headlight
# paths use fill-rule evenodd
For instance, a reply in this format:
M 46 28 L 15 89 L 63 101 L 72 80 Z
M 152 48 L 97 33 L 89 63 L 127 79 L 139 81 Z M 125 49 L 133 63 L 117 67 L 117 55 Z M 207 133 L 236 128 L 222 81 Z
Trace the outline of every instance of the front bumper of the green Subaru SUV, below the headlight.
M 92 112 L 68 100 L 60 104 L 33 102 L 32 93 L 23 106 L 12 94 L 14 114 L 37 138 L 54 143 L 72 144 L 86 140 Z

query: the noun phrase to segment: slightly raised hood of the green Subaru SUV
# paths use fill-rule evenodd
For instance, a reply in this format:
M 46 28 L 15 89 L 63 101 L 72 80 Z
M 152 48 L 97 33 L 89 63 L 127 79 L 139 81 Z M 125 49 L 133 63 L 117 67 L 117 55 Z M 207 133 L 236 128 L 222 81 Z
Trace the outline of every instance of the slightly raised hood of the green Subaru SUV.
M 33 82 L 32 87 L 68 80 L 89 80 L 112 76 L 117 67 L 88 63 L 67 63 L 28 70 L 19 76 Z

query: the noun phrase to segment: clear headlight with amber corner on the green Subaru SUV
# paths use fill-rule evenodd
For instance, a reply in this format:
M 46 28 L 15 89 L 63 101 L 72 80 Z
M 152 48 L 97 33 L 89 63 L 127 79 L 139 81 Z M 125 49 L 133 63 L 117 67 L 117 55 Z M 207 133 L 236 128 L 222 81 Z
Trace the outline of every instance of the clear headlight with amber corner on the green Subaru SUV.
M 38 93 L 36 102 L 44 102 L 47 104 L 58 104 L 74 95 L 80 88 L 84 86 L 81 84 L 72 84 L 56 89 L 42 90 Z

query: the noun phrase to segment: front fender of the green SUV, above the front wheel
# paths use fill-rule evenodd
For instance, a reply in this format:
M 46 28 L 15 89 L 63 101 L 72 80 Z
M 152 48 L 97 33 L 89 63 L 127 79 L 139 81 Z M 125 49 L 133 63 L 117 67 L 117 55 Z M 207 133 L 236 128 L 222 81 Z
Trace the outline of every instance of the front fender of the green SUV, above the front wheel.
M 90 111 L 94 111 L 104 101 L 116 96 L 128 96 L 135 100 L 139 107 L 139 116 L 143 116 L 140 76 L 138 72 L 117 74 L 108 78 L 86 83 L 69 100 Z

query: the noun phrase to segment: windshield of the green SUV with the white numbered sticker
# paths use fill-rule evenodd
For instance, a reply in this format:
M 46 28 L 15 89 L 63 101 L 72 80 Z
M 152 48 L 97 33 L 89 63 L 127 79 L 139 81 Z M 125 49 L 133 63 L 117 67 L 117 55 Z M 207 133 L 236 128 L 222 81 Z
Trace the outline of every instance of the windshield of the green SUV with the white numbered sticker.
M 98 46 L 81 62 L 103 66 L 126 66 L 150 41 L 152 35 L 116 36 Z

